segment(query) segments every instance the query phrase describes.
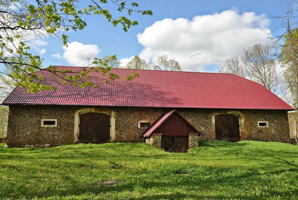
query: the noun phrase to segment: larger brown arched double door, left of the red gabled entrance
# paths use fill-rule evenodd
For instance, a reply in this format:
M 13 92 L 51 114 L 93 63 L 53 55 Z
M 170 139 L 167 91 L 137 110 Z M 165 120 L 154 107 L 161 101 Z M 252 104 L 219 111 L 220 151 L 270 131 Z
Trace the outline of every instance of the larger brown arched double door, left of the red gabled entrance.
M 80 115 L 79 142 L 110 142 L 110 115 L 105 113 L 85 113 Z

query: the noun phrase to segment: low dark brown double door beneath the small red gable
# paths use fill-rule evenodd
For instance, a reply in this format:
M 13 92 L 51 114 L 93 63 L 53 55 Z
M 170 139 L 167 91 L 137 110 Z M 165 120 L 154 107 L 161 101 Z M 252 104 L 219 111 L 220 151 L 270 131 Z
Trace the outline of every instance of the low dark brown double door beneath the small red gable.
M 188 137 L 162 137 L 162 148 L 171 153 L 187 153 Z

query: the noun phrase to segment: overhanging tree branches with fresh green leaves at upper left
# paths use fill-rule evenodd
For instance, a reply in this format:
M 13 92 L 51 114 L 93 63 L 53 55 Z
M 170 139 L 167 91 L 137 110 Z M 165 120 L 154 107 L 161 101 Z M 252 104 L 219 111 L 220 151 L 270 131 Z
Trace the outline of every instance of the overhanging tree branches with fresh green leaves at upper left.
M 90 0 L 86 8 L 78 9 L 86 1 L 80 0 L 2 0 L 0 1 L 0 63 L 14 71 L 10 76 L 17 86 L 26 87 L 27 92 L 38 92 L 40 90 L 55 90 L 56 87 L 44 84 L 43 76 L 36 74 L 37 70 L 46 70 L 58 76 L 58 81 L 73 86 L 96 86 L 89 80 L 92 72 L 106 74 L 109 80 L 119 79 L 119 76 L 111 72 L 108 66 L 109 59 L 116 60 L 116 56 L 109 59 L 94 58 L 93 67 L 82 70 L 79 75 L 65 75 L 71 70 L 59 71 L 55 66 L 48 66 L 44 69 L 42 59 L 38 55 L 30 53 L 28 36 L 44 39 L 45 37 L 58 37 L 61 33 L 63 45 L 67 46 L 69 30 L 77 31 L 86 27 L 87 23 L 83 20 L 86 15 L 103 15 L 113 26 L 122 25 L 123 30 L 128 31 L 131 26 L 138 25 L 137 21 L 131 21 L 131 14 L 152 15 L 151 10 L 137 10 L 139 6 L 132 2 L 128 8 L 126 1 L 121 0 Z M 123 13 L 126 16 L 114 18 L 112 11 L 105 7 Z M 132 80 L 136 74 L 127 76 L 127 80 Z M 87 80 L 87 81 L 86 81 Z

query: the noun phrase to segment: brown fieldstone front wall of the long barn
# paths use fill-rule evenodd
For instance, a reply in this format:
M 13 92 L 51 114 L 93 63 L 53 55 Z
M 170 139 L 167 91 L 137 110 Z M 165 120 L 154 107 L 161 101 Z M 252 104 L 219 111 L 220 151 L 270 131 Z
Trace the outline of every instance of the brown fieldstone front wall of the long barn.
M 74 143 L 75 112 L 84 106 L 9 106 L 7 144 L 72 144 Z M 151 124 L 171 108 L 117 108 L 115 113 L 114 142 L 145 142 L 144 128 L 138 128 L 139 120 Z M 266 110 L 217 110 L 177 109 L 201 135 L 200 140 L 212 140 L 216 114 L 237 112 L 240 117 L 241 139 L 289 142 L 287 111 Z M 239 114 L 240 113 L 240 114 Z M 41 119 L 57 119 L 57 127 L 41 127 Z M 257 121 L 268 121 L 268 128 L 258 128 Z

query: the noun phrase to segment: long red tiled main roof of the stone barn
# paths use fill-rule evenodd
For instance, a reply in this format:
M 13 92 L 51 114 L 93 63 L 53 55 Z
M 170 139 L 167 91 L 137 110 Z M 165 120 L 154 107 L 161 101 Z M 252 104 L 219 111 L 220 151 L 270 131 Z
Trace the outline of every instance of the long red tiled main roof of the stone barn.
M 58 69 L 71 69 L 75 74 L 82 67 L 58 66 Z M 259 83 L 233 74 L 137 69 L 113 72 L 121 79 L 105 85 L 99 80 L 104 77 L 94 73 L 91 80 L 100 87 L 82 89 L 57 83 L 47 78 L 49 72 L 44 71 L 46 81 L 57 86 L 57 91 L 33 94 L 16 87 L 2 104 L 293 110 Z M 140 77 L 125 81 L 127 75 L 135 72 Z

